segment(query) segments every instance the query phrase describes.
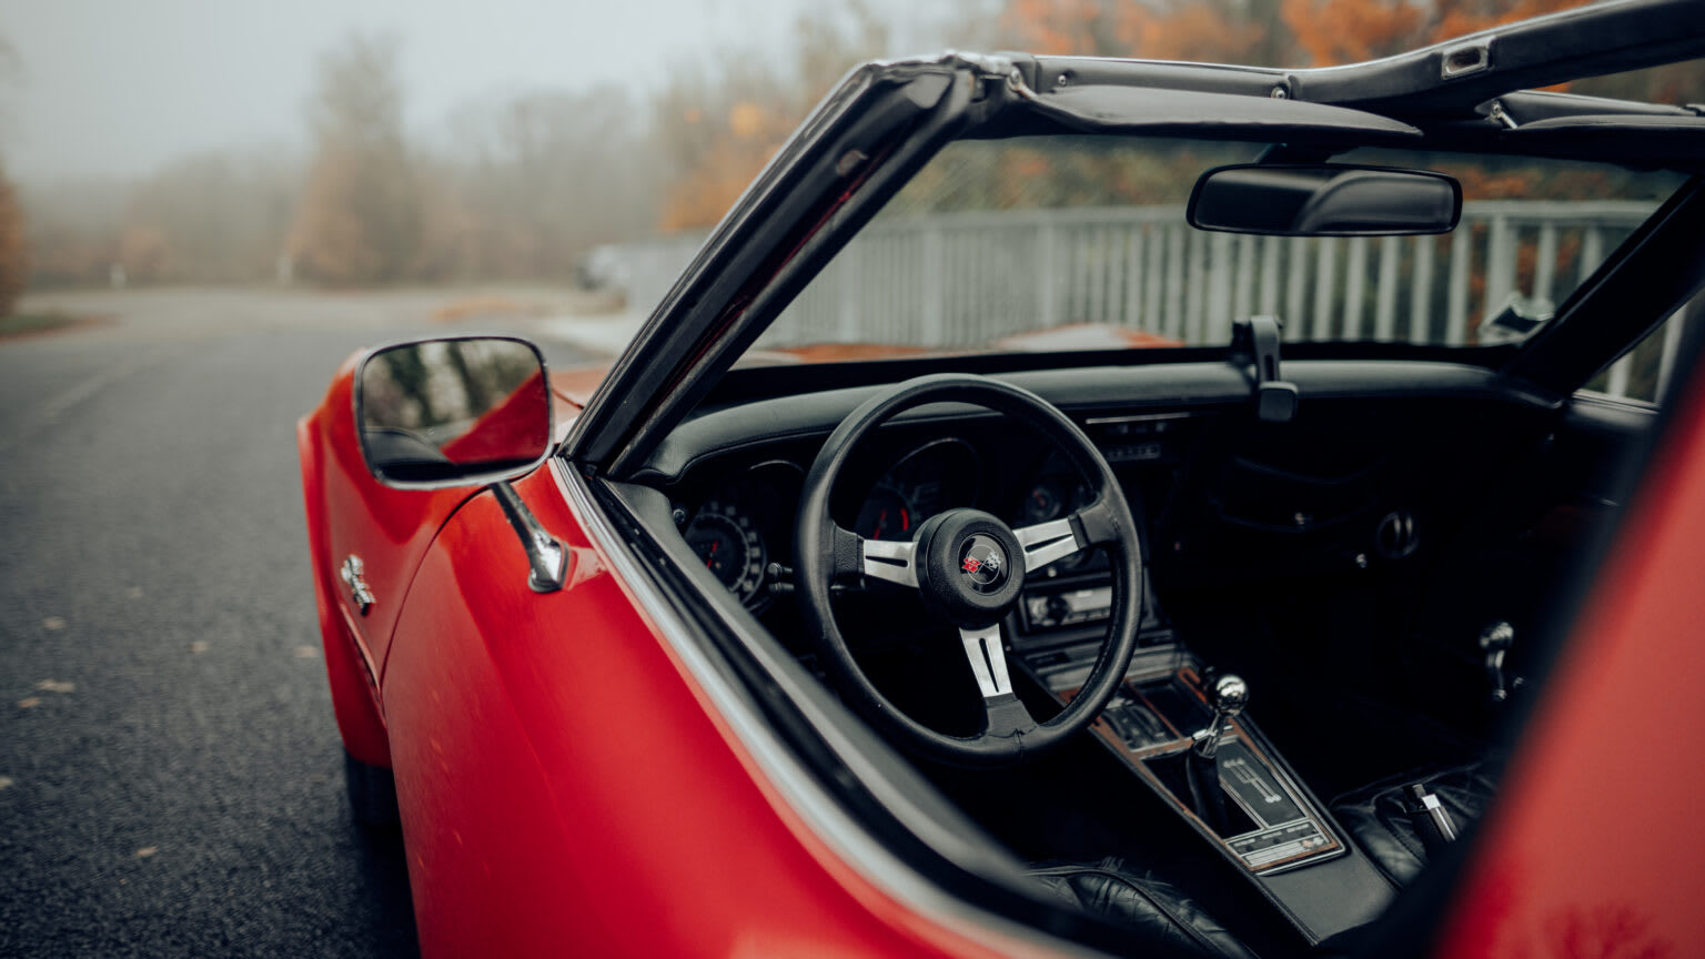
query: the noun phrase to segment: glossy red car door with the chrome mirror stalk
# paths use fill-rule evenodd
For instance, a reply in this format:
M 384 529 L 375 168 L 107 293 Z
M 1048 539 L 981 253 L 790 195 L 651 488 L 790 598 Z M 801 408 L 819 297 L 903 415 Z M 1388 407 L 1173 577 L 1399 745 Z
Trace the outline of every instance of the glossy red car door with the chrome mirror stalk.
M 551 471 L 517 488 L 569 546 L 568 585 L 532 592 L 476 497 L 421 561 L 384 679 L 426 956 L 992 954 L 810 834 Z

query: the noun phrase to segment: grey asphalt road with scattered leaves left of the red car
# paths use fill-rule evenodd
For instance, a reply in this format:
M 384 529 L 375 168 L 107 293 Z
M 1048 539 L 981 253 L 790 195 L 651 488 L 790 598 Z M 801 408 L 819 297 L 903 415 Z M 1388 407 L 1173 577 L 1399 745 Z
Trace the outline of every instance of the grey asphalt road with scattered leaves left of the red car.
M 455 300 L 60 297 L 111 323 L 0 340 L 0 956 L 416 952 L 344 800 L 293 430 L 361 345 L 540 326 Z

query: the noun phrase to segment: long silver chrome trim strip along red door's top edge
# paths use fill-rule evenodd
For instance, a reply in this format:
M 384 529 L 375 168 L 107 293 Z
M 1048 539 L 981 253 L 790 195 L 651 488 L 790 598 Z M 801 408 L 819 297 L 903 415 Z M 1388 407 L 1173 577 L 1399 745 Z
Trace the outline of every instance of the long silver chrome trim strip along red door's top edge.
M 1035 927 L 984 911 L 943 891 L 871 838 L 808 771 L 800 768 L 798 759 L 786 744 L 776 739 L 776 734 L 764 724 L 764 718 L 754 713 L 740 693 L 711 665 L 704 650 L 685 636 L 685 625 L 668 602 L 658 596 L 656 589 L 650 584 L 650 573 L 641 568 L 639 560 L 633 556 L 627 544 L 622 543 L 609 520 L 604 519 L 602 510 L 592 500 L 592 491 L 587 488 L 585 478 L 561 457 L 551 459 L 551 473 L 556 476 L 568 509 L 575 514 L 587 539 L 598 549 L 604 561 L 616 570 L 619 582 L 633 601 L 656 625 L 663 640 L 680 657 L 680 662 L 692 674 L 694 683 L 711 698 L 718 715 L 728 724 L 728 729 L 759 764 L 769 783 L 776 787 L 788 809 L 800 817 L 818 843 L 839 857 L 842 863 L 849 865 L 859 879 L 890 896 L 914 915 L 934 921 L 950 933 L 962 935 L 985 949 L 1014 952 L 1028 947 L 1025 949 L 1028 952 L 1043 947 L 1062 956 L 1105 956 L 1081 944 L 1049 935 Z M 818 732 L 825 734 L 827 730 L 818 727 Z M 825 735 L 825 741 L 835 756 L 847 763 L 852 775 L 859 782 L 864 782 L 859 776 L 863 763 L 856 761 L 856 751 L 849 756 L 849 749 L 852 747 L 844 741 L 829 735 Z M 866 785 L 870 783 L 866 782 Z M 878 800 L 881 800 L 881 795 L 878 795 Z M 931 836 L 921 838 L 926 845 L 938 845 L 931 841 Z M 938 840 L 945 838 L 938 836 Z M 878 918 L 876 921 L 883 920 Z

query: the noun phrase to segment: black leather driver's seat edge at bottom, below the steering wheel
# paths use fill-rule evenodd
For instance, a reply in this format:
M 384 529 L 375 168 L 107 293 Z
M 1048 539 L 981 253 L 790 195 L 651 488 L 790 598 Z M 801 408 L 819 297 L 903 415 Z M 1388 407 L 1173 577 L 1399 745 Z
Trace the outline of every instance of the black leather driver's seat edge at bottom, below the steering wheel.
M 1129 872 L 1118 858 L 1096 863 L 1045 863 L 1030 874 L 1079 910 L 1141 928 L 1154 940 L 1180 950 L 1219 959 L 1257 959 L 1176 886 Z

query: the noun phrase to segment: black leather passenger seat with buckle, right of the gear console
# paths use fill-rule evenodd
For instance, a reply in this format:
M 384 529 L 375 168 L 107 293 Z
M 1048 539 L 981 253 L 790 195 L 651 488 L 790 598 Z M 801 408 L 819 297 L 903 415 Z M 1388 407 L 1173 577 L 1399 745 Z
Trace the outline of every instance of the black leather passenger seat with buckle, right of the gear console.
M 1477 822 L 1497 788 L 1497 766 L 1490 761 L 1463 766 L 1417 770 L 1369 783 L 1332 802 L 1332 814 L 1355 836 L 1379 872 L 1396 886 L 1408 886 L 1427 865 L 1427 848 L 1405 809 L 1403 787 L 1422 783 L 1439 797 L 1458 834 Z

